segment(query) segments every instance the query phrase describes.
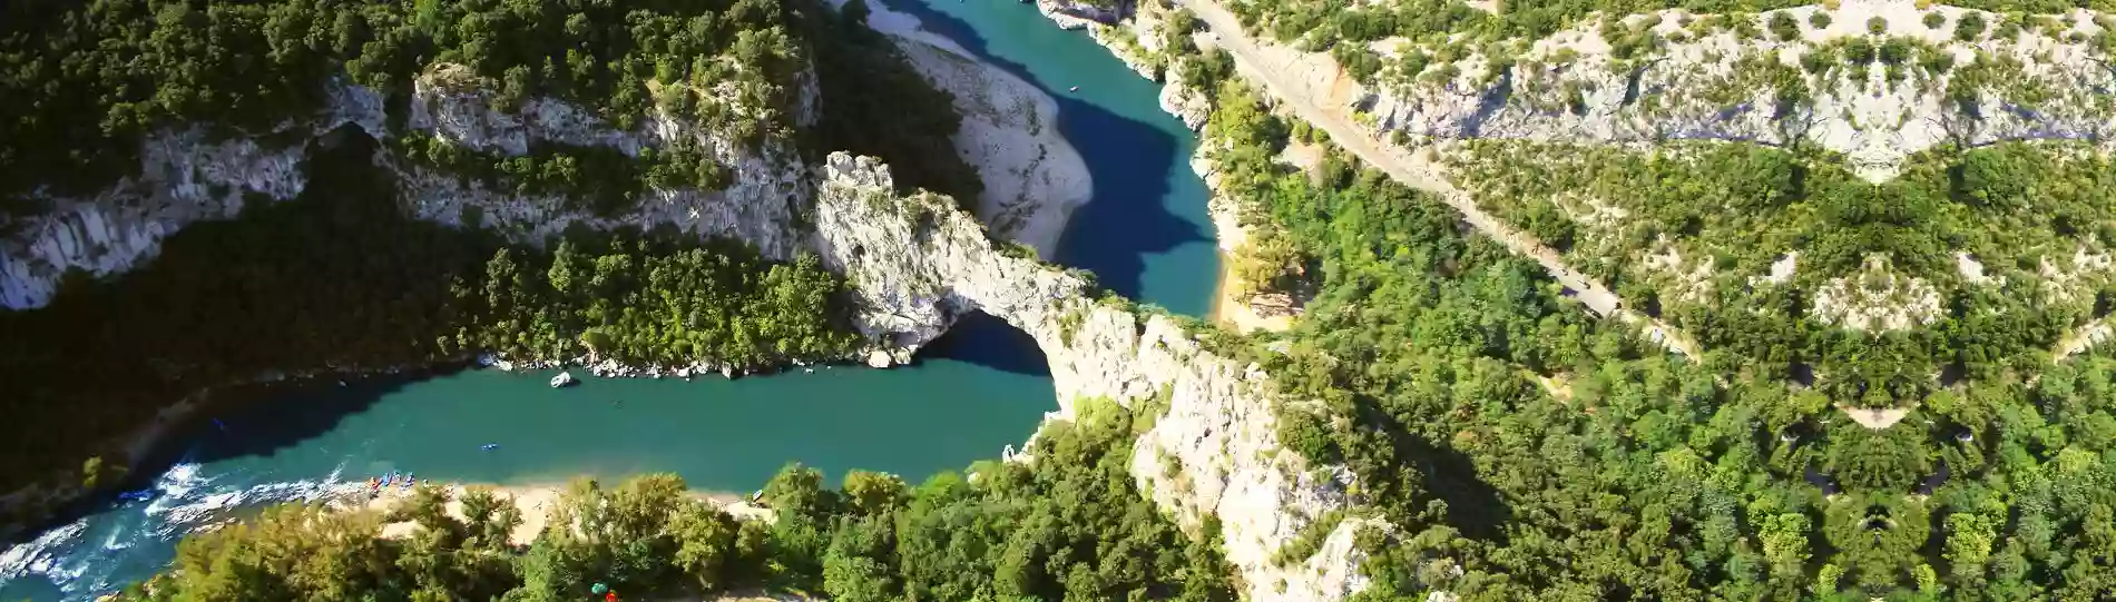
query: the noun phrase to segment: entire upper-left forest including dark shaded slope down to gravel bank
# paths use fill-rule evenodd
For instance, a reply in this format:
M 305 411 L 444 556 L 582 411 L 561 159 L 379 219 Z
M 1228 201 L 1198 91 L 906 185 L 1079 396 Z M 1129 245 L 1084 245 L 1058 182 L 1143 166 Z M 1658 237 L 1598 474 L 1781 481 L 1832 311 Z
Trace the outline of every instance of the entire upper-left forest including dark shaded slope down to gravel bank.
M 425 78 L 489 93 L 504 112 L 573 101 L 620 131 L 660 112 L 726 139 L 791 137 L 810 63 L 823 91 L 817 152 L 891 158 L 906 186 L 975 199 L 975 173 L 948 152 L 959 116 L 946 93 L 821 2 L 30 0 L 0 8 L 0 215 L 42 211 L 38 190 L 78 196 L 131 175 L 142 135 L 163 127 L 309 127 L 345 82 L 383 93 L 398 123 Z M 408 158 L 601 213 L 631 207 L 626 192 L 641 186 L 728 184 L 724 165 L 681 144 L 639 167 L 590 148 L 508 158 L 417 133 L 404 146 L 421 150 Z

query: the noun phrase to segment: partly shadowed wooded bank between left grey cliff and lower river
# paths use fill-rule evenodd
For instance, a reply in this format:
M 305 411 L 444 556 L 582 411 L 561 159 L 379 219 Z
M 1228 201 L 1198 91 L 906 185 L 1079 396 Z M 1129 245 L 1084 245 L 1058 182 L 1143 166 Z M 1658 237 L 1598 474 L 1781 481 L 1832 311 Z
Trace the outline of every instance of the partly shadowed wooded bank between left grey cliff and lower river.
M 76 275 L 47 308 L 0 313 L 0 412 L 34 425 L 6 437 L 6 482 L 70 471 L 171 399 L 260 374 L 588 346 L 762 365 L 857 344 L 842 279 L 813 258 L 770 264 L 738 243 L 660 232 L 501 245 L 404 218 L 372 150 L 343 129 L 311 150 L 300 199 L 250 203 L 239 220 L 169 237 L 146 268 Z

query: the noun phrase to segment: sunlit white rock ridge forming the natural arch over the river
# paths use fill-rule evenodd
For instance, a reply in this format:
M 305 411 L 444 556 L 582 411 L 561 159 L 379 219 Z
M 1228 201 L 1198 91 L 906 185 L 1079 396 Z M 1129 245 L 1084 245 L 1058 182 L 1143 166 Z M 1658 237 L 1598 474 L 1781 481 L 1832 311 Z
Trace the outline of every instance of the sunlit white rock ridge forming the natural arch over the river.
M 1339 524 L 1308 560 L 1272 562 L 1308 522 L 1348 505 L 1350 475 L 1282 452 L 1265 374 L 1206 351 L 1174 319 L 1092 300 L 1079 277 L 995 249 L 946 199 L 889 190 L 880 163 L 832 154 L 817 192 L 817 249 L 878 308 L 863 323 L 870 334 L 929 338 L 929 327 L 982 311 L 1043 349 L 1054 418 L 1071 416 L 1075 399 L 1166 399 L 1132 475 L 1183 524 L 1221 520 L 1248 600 L 1339 600 L 1363 585 L 1350 545 L 1361 522 Z

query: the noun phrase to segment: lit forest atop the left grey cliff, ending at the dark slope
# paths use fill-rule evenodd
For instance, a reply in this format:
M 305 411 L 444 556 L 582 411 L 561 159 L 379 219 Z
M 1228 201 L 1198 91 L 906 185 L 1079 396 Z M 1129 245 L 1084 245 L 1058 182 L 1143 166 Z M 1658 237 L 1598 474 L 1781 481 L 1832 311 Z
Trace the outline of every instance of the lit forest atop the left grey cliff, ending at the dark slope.
M 495 82 L 501 108 L 550 95 L 631 129 L 660 101 L 713 129 L 787 131 L 808 57 L 798 4 L 8 2 L 0 199 L 30 211 L 36 190 L 93 192 L 138 169 L 138 139 L 159 127 L 262 135 L 307 123 L 341 74 L 402 99 L 436 63 Z

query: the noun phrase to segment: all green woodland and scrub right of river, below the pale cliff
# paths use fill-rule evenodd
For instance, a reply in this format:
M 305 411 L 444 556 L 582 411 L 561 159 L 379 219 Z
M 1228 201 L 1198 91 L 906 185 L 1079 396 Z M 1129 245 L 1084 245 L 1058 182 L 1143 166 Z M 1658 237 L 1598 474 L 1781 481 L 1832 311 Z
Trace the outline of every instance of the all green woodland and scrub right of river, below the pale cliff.
M 1204 70 L 1210 72 L 1210 70 Z M 2108 241 L 2108 158 L 2065 144 L 1942 150 L 1890 184 L 1835 156 L 1735 144 L 1488 144 L 1458 182 L 1625 300 L 1695 334 L 1682 359 L 1595 321 L 1524 258 L 1354 158 L 1274 161 L 1325 142 L 1240 84 L 1208 135 L 1221 194 L 1257 247 L 1253 281 L 1312 289 L 1248 351 L 1293 399 L 1280 437 L 1344 463 L 1384 518 L 1361 600 L 2099 600 L 2116 361 L 2053 361 L 2108 306 L 2108 279 L 2042 275 Z M 1608 207 L 1625 211 L 1606 213 Z M 1682 270 L 1655 270 L 1655 241 Z M 1801 249 L 1784 283 L 1769 275 Z M 1966 251 L 2002 285 L 1970 285 Z M 1879 266 L 1868 258 L 1885 258 Z M 1689 272 L 1710 266 L 1710 287 Z M 1890 277 L 1894 275 L 1894 279 Z M 1816 319 L 1830 277 L 1919 277 L 1930 325 Z M 2050 287 L 2067 294 L 2048 294 Z M 1837 408 L 1913 408 L 1866 429 Z M 1312 547 L 1289 543 L 1282 556 Z

